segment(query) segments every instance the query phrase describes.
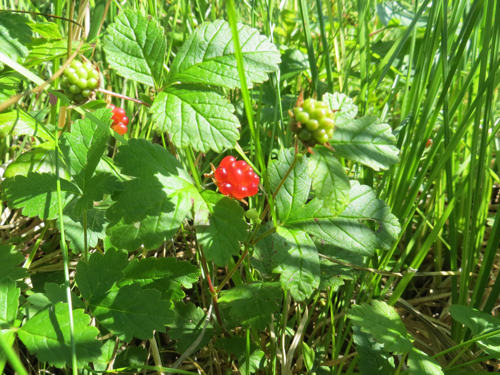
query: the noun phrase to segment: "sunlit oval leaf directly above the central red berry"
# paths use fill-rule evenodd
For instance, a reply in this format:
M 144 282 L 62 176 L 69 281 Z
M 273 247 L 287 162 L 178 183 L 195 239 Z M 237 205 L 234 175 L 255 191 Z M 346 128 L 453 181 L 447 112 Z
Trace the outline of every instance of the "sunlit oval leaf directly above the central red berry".
M 239 139 L 234 107 L 217 92 L 195 84 L 176 84 L 160 92 L 150 112 L 173 144 L 201 152 L 232 148 Z

